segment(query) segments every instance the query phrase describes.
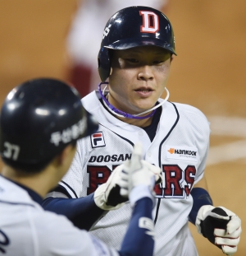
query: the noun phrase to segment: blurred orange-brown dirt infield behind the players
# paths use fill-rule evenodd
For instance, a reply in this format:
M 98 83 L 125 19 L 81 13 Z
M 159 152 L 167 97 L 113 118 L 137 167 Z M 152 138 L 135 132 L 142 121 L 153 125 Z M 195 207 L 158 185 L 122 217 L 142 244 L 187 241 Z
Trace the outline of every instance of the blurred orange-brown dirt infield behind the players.
M 98 2 L 105 13 L 103 2 L 106 1 Z M 30 78 L 77 79 L 75 64 L 78 62 L 72 56 L 68 35 L 71 35 L 72 21 L 79 8 L 75 0 L 0 1 L 1 105 L 14 86 Z M 95 14 L 91 7 L 84 8 L 87 14 L 91 12 L 95 18 L 101 18 L 100 12 Z M 178 54 L 172 63 L 167 86 L 170 100 L 194 105 L 211 122 L 211 148 L 206 170 L 209 192 L 214 205 L 222 205 L 239 215 L 244 230 L 246 2 L 163 0 L 160 8 L 171 20 Z M 94 30 L 89 29 L 84 40 L 92 40 L 93 33 Z M 103 30 L 96 33 L 101 33 L 101 38 Z M 99 49 L 100 41 L 94 41 Z M 84 51 L 90 53 L 90 49 L 88 44 Z M 96 59 L 94 61 L 97 63 Z M 84 66 L 86 73 L 90 67 L 89 64 Z M 90 77 L 83 80 L 87 83 L 86 90 L 92 88 L 91 81 L 95 86 L 99 81 L 93 72 L 88 74 Z M 198 235 L 194 226 L 190 228 L 200 256 L 222 255 L 220 249 Z M 243 256 L 245 251 L 243 231 L 236 255 Z

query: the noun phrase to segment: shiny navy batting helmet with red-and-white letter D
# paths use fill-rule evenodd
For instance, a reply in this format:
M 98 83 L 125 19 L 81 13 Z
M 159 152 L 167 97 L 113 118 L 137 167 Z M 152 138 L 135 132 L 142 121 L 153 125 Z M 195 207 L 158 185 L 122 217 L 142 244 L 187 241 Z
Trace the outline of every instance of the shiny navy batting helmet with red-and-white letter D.
M 108 49 L 130 49 L 156 45 L 175 54 L 175 37 L 170 21 L 151 7 L 127 7 L 116 12 L 103 31 L 98 54 L 98 72 L 102 81 L 110 74 Z

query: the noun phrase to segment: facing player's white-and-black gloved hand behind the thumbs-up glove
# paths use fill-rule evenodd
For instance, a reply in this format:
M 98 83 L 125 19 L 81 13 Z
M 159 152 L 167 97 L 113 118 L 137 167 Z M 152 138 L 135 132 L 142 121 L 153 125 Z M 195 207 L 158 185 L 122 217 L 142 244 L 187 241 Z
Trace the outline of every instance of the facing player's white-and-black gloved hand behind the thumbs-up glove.
M 134 151 L 136 148 L 134 147 Z M 132 160 L 134 159 L 134 151 L 132 153 Z M 149 164 L 147 161 L 141 160 L 142 155 L 140 156 L 140 161 L 142 166 L 144 166 L 149 172 L 151 172 L 151 175 L 154 175 L 154 179 L 156 184 L 160 184 L 162 182 L 162 175 L 161 170 L 158 167 L 155 167 L 154 165 Z M 112 175 L 109 176 L 107 179 L 107 182 L 105 184 L 102 184 L 96 189 L 94 193 L 94 202 L 98 207 L 100 207 L 103 210 L 115 210 L 120 208 L 126 201 L 129 200 L 128 195 L 129 193 L 124 193 L 124 197 L 121 195 L 121 186 L 124 186 L 126 189 L 127 181 L 124 180 L 125 175 L 123 173 L 123 170 L 125 169 L 125 164 L 130 165 L 133 167 L 132 160 L 124 162 L 124 164 L 119 165 L 116 167 L 115 170 L 112 171 Z M 135 161 L 134 161 L 135 162 Z M 136 165 L 136 168 L 138 165 Z M 127 167 L 126 167 L 127 168 Z M 123 176 L 122 176 L 123 174 Z M 127 187 L 128 191 L 128 187 Z

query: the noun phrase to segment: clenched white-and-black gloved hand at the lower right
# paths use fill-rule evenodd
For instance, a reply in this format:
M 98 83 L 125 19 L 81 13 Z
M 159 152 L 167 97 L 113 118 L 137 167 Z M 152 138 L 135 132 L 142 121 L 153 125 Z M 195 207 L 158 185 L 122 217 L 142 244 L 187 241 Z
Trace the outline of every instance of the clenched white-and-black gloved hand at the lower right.
M 240 240 L 241 220 L 234 212 L 225 207 L 205 205 L 198 211 L 196 219 L 198 233 L 226 255 L 233 255 L 237 251 Z

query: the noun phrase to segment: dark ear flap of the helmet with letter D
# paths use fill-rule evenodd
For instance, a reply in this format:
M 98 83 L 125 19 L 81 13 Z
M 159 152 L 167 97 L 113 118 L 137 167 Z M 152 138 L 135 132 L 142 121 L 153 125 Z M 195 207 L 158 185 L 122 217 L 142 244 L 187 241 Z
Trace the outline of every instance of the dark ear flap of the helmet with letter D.
M 98 53 L 98 72 L 101 81 L 106 81 L 110 75 L 110 58 L 108 49 L 102 47 Z

